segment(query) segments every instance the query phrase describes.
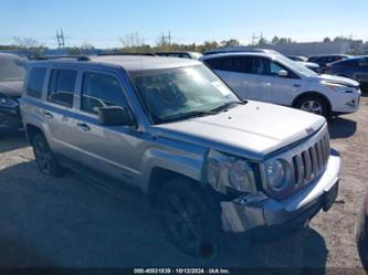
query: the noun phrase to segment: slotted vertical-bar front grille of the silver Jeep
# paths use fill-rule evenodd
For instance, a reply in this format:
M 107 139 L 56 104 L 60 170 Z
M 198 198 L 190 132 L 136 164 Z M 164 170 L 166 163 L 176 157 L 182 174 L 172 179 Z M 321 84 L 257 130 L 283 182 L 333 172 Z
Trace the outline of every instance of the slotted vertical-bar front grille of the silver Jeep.
M 293 157 L 295 184 L 303 186 L 319 176 L 327 166 L 329 137 L 325 133 L 315 144 Z

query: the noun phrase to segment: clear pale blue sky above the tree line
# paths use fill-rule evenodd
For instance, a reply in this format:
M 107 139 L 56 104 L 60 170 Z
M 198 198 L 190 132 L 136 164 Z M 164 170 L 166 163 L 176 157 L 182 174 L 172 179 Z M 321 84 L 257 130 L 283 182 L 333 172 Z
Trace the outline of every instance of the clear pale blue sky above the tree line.
M 56 47 L 60 28 L 66 45 L 97 47 L 119 46 L 132 32 L 155 44 L 169 31 L 178 43 L 250 43 L 261 32 L 301 42 L 337 35 L 367 41 L 367 14 L 368 0 L 0 0 L 0 44 L 20 36 Z

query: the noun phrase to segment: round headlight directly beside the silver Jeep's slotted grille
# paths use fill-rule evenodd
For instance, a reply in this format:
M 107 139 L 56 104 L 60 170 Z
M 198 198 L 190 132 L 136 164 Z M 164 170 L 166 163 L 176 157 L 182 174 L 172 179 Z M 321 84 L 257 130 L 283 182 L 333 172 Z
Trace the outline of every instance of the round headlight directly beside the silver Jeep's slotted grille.
M 293 181 L 293 172 L 290 165 L 283 159 L 272 160 L 264 167 L 266 180 L 272 191 L 282 191 Z

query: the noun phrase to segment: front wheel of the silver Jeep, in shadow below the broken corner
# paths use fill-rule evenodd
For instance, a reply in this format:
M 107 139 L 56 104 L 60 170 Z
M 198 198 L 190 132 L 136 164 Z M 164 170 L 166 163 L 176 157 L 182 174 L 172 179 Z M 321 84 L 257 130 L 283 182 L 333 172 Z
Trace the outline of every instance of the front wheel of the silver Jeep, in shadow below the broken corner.
M 191 181 L 169 181 L 159 194 L 158 211 L 168 240 L 187 255 L 213 260 L 220 244 L 217 211 Z

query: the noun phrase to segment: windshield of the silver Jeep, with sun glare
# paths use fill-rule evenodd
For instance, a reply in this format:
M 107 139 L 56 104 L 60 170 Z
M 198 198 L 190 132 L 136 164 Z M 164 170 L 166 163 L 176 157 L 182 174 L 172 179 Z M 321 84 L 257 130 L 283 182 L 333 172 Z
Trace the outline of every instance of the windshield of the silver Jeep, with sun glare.
M 143 71 L 133 81 L 154 124 L 213 114 L 242 102 L 204 65 Z

